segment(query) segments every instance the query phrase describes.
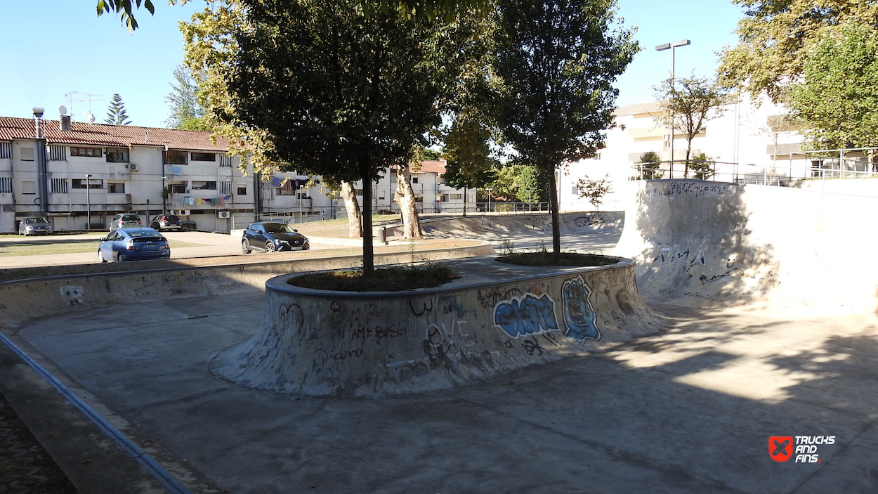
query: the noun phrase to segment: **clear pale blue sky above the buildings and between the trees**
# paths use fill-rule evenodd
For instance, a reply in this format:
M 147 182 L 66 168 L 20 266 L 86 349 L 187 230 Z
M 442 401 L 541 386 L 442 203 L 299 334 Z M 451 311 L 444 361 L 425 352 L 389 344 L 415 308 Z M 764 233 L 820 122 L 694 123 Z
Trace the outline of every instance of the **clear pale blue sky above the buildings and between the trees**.
M 655 47 L 676 40 L 692 45 L 676 50 L 676 74 L 710 76 L 716 54 L 733 45 L 730 33 L 742 10 L 730 0 L 618 0 L 625 25 L 637 26 L 636 39 L 644 50 L 620 77 L 619 105 L 653 99 L 651 87 L 671 70 L 671 52 Z M 0 0 L 0 116 L 32 116 L 31 108 L 46 109 L 57 119 L 59 105 L 73 113 L 89 112 L 97 122 L 106 118 L 113 93 L 119 93 L 133 125 L 164 127 L 169 115 L 165 96 L 174 81 L 171 71 L 183 62 L 183 37 L 177 22 L 204 8 L 198 0 L 170 7 L 154 0 L 155 16 L 140 11 L 140 29 L 128 33 L 112 15 L 97 18 L 97 0 Z M 76 115 L 85 121 L 85 115 Z

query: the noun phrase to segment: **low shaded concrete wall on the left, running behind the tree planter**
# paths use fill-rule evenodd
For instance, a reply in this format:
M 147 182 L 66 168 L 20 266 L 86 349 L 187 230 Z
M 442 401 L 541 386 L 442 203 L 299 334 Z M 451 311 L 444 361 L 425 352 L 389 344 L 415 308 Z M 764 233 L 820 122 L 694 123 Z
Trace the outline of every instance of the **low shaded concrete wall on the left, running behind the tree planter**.
M 375 256 L 376 265 L 405 264 L 493 254 L 488 243 L 435 251 Z M 193 269 L 59 276 L 0 283 L 0 328 L 65 312 L 208 295 L 262 290 L 265 280 L 290 272 L 344 269 L 362 265 L 362 256 L 297 259 L 270 263 L 219 265 Z

